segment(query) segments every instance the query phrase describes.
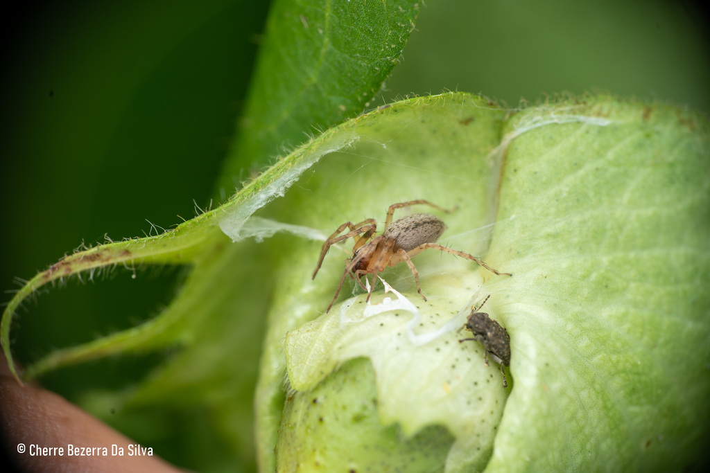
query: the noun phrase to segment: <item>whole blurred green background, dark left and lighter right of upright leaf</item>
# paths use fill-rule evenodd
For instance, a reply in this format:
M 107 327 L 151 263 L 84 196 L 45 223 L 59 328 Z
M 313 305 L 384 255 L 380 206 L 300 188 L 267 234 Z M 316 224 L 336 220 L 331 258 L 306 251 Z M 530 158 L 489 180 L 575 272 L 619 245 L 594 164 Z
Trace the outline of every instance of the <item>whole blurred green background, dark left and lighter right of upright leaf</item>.
M 344 1 L 344 0 L 343 0 Z M 4 13 L 0 284 L 95 244 L 153 233 L 216 206 L 268 2 L 68 1 Z M 371 106 L 444 89 L 511 107 L 608 91 L 710 111 L 710 45 L 692 3 L 442 0 L 422 6 L 401 64 Z M 278 73 L 278 72 L 276 72 Z M 235 186 L 266 163 L 244 162 Z M 196 203 L 196 204 L 195 204 Z M 148 223 L 150 221 L 151 223 Z M 27 301 L 11 334 L 24 362 L 135 325 L 173 295 L 181 269 L 123 268 Z M 110 281 L 107 281 L 110 279 Z M 84 386 L 140 379 L 157 358 L 50 374 Z

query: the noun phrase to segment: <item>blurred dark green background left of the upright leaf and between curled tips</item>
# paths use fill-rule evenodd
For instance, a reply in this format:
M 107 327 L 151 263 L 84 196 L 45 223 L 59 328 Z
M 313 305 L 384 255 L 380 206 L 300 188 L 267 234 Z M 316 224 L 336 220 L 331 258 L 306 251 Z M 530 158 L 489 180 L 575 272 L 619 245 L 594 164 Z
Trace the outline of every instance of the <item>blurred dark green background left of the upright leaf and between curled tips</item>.
M 268 11 L 223 0 L 32 7 L 4 21 L 5 291 L 82 242 L 155 234 L 151 223 L 170 228 L 209 206 Z M 18 359 L 136 325 L 170 301 L 182 272 L 131 275 L 117 268 L 27 301 L 11 335 Z M 87 378 L 114 386 L 148 369 L 111 363 L 44 382 L 71 398 Z

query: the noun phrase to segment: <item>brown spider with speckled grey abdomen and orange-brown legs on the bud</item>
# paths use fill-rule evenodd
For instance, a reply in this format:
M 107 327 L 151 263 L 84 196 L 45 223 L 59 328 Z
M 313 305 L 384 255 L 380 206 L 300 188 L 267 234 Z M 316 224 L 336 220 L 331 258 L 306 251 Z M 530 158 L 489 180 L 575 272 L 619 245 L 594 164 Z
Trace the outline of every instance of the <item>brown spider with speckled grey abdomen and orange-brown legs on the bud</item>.
M 353 255 L 345 265 L 343 277 L 340 278 L 338 289 L 335 291 L 335 296 L 333 296 L 333 300 L 330 301 L 330 305 L 326 309 L 326 312 L 330 311 L 330 308 L 335 303 L 335 299 L 337 299 L 340 289 L 342 289 L 343 282 L 345 281 L 347 274 L 352 273 L 350 274 L 350 277 L 356 279 L 360 286 L 368 291 L 367 300 L 369 301 L 370 296 L 372 295 L 372 288 L 375 286 L 377 274 L 379 272 L 383 272 L 386 267 L 393 267 L 398 265 L 400 262 L 407 263 L 407 266 L 414 275 L 414 280 L 417 283 L 417 292 L 419 292 L 419 295 L 426 301 L 427 298 L 424 294 L 422 294 L 422 288 L 419 285 L 419 273 L 417 272 L 417 268 L 415 268 L 412 263 L 412 257 L 418 255 L 424 250 L 445 251 L 447 253 L 451 253 L 452 255 L 464 257 L 468 260 L 474 261 L 476 264 L 483 266 L 488 269 L 488 271 L 495 274 L 505 274 L 507 276 L 511 276 L 510 273 L 496 271 L 496 269 L 486 265 L 486 263 L 479 260 L 479 258 L 469 255 L 469 253 L 437 245 L 435 241 L 439 240 L 439 237 L 442 233 L 444 233 L 444 230 L 447 229 L 447 226 L 440 218 L 433 216 L 430 213 L 412 213 L 408 216 L 392 221 L 395 209 L 415 204 L 426 204 L 428 206 L 438 208 L 440 211 L 444 211 L 446 213 L 450 213 L 455 210 L 455 208 L 447 210 L 432 204 L 430 201 L 422 199 L 400 202 L 399 204 L 392 204 L 388 209 L 387 218 L 385 220 L 385 229 L 383 230 L 382 235 L 378 235 L 373 238 L 373 234 L 377 230 L 377 223 L 374 218 L 368 218 L 360 223 L 343 223 L 332 235 L 330 235 L 325 243 L 323 243 L 318 265 L 313 272 L 313 279 L 315 279 L 315 275 L 318 274 L 318 270 L 323 263 L 323 259 L 332 245 L 339 243 L 342 240 L 347 240 L 348 238 L 354 238 L 357 235 L 360 235 L 359 238 L 355 240 Z M 348 228 L 350 231 L 344 235 L 339 235 L 343 230 L 345 230 L 345 228 Z M 365 274 L 372 274 L 372 284 L 370 284 L 369 290 L 360 279 Z

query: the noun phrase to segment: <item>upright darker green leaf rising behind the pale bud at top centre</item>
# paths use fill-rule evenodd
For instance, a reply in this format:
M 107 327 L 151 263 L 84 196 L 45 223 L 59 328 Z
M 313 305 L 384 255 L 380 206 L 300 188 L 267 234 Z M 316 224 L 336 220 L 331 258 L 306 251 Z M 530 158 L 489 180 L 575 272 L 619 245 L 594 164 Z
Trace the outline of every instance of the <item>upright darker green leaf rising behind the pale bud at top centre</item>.
M 220 184 L 307 135 L 356 116 L 397 64 L 414 29 L 410 0 L 273 2 L 239 139 Z

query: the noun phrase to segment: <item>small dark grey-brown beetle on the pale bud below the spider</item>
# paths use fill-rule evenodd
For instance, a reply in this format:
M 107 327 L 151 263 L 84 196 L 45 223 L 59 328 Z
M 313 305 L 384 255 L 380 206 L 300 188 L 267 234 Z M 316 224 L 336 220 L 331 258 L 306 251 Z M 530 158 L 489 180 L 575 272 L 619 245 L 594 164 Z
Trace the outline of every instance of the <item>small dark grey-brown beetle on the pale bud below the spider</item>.
M 488 301 L 488 297 L 486 297 L 486 301 Z M 464 325 L 464 327 L 474 333 L 474 337 L 464 338 L 463 340 L 459 340 L 459 343 L 465 342 L 466 340 L 476 340 L 476 342 L 484 345 L 484 361 L 486 362 L 486 366 L 491 366 L 488 364 L 488 355 L 491 355 L 491 360 L 501 365 L 503 387 L 507 388 L 506 368 L 503 365 L 510 366 L 510 336 L 508 335 L 508 330 L 501 327 L 500 323 L 488 317 L 487 313 L 478 312 L 481 310 L 481 307 L 486 304 L 486 301 L 484 301 L 479 308 L 471 310 L 471 315 L 469 315 L 469 319 L 466 325 Z

